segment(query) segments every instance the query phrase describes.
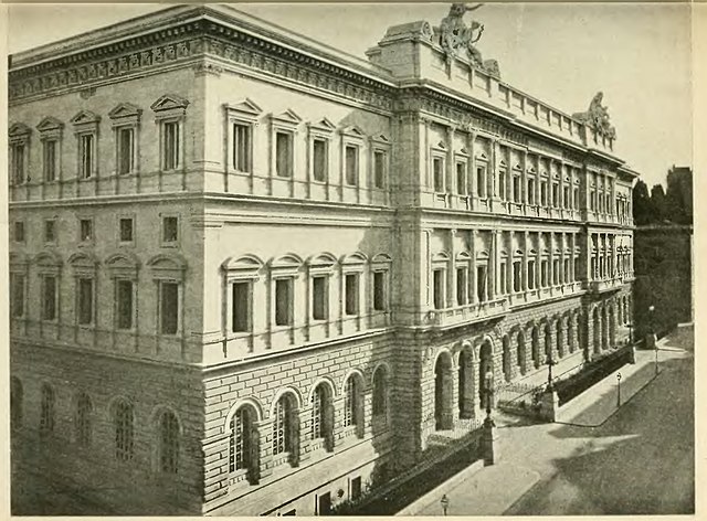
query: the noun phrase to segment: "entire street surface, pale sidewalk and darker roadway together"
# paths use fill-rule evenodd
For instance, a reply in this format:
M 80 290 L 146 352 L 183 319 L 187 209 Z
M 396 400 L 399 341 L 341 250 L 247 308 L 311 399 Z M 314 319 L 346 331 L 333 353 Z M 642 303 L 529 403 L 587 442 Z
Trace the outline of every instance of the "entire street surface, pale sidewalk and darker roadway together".
M 637 359 L 621 369 L 632 393 L 619 410 L 611 375 L 576 398 L 566 424 L 502 416 L 497 464 L 441 486 L 409 513 L 441 515 L 442 493 L 450 515 L 693 513 L 692 334 L 661 341 L 655 378 L 653 352 Z

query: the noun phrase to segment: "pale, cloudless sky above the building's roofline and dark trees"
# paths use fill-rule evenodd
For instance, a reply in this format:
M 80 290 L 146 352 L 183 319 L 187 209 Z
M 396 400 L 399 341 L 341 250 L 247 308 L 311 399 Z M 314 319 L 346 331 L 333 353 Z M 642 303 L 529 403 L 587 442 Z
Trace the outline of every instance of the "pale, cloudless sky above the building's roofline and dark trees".
M 253 15 L 366 59 L 390 25 L 444 18 L 449 3 L 260 3 Z M 31 49 L 162 9 L 159 4 L 13 4 L 8 50 Z M 477 47 L 505 82 L 564 111 L 604 93 L 614 151 L 652 187 L 693 166 L 690 11 L 686 3 L 486 3 Z

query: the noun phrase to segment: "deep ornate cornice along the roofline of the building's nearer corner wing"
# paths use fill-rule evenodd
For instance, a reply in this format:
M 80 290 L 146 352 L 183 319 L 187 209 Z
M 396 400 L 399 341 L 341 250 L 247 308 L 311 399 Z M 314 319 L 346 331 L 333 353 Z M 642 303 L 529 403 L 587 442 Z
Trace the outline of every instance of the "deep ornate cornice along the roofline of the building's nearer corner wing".
M 347 68 L 346 64 L 333 64 L 203 18 L 11 70 L 9 100 L 15 104 L 66 88 L 83 89 L 205 57 L 245 65 L 382 110 L 392 109 L 395 87 L 390 82 L 377 81 Z

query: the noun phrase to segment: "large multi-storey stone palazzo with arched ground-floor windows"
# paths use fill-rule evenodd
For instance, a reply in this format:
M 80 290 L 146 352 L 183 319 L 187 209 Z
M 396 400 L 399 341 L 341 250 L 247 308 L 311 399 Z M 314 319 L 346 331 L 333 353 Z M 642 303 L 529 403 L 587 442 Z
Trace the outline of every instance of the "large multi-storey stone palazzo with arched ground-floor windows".
M 365 60 L 177 6 L 11 56 L 15 476 L 326 514 L 487 385 L 625 339 L 637 173 L 601 96 L 551 107 L 449 21 Z

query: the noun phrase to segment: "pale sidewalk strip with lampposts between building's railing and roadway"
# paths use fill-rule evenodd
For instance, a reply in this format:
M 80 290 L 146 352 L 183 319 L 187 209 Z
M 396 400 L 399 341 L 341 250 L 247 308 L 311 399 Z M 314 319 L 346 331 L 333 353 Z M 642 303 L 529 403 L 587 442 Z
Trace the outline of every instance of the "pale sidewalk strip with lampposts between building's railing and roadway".
M 662 339 L 658 363 L 686 355 L 679 348 L 674 341 Z M 577 428 L 558 423 L 504 426 L 498 429 L 499 460 L 496 465 L 464 469 L 397 515 L 443 515 L 441 499 L 444 495 L 449 499 L 447 515 L 505 514 L 536 483 L 558 475 L 558 459 L 576 457 L 578 450 L 582 453 L 587 447 L 593 447 L 591 432 L 620 411 L 616 407 L 619 372 L 623 406 L 655 381 L 655 352 L 636 351 L 635 364 L 624 365 L 567 404 L 561 412 L 562 422 L 579 427 L 579 433 L 588 427 L 587 437 L 558 436 L 559 428 Z

